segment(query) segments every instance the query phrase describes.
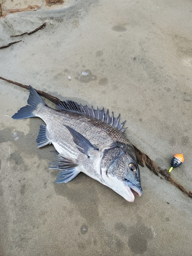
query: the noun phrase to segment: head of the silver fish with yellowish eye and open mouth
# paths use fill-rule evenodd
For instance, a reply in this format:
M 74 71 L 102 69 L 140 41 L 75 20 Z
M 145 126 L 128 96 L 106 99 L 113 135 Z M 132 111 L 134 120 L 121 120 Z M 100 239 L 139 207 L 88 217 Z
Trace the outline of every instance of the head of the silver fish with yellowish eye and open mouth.
M 106 186 L 129 202 L 142 195 L 140 170 L 132 144 L 116 143 L 106 149 L 101 160 L 101 175 Z

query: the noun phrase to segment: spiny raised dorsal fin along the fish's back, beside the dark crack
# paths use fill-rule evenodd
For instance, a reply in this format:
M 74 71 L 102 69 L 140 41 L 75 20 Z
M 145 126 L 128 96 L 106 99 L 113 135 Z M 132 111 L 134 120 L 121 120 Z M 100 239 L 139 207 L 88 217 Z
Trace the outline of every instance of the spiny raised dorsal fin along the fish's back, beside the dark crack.
M 57 109 L 59 111 L 67 111 L 67 112 L 72 112 L 72 113 L 77 113 L 77 114 L 81 114 L 81 115 L 87 115 L 87 116 L 92 116 L 93 118 L 100 120 L 104 123 L 107 123 L 113 127 L 115 127 L 117 130 L 119 130 L 120 132 L 124 132 L 125 129 L 123 128 L 123 125 L 125 124 L 126 121 L 124 121 L 123 123 L 119 122 L 120 119 L 120 114 L 119 116 L 116 118 L 114 117 L 114 114 L 112 112 L 112 116 L 110 116 L 109 114 L 109 110 L 106 111 L 106 113 L 104 113 L 104 109 L 99 110 L 98 107 L 96 110 L 94 110 L 93 106 L 92 108 L 88 108 L 87 105 L 83 106 L 83 105 L 79 105 L 78 103 L 71 101 L 71 100 L 67 100 L 67 101 L 60 101 L 59 104 L 56 105 Z

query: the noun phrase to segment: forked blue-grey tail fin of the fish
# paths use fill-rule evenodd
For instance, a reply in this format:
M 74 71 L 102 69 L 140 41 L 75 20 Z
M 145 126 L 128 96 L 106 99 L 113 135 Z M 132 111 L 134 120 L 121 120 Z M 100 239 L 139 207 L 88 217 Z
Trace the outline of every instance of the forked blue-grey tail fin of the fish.
M 12 116 L 13 119 L 25 119 L 28 117 L 34 117 L 35 115 L 33 114 L 33 111 L 36 109 L 37 105 L 39 103 L 46 105 L 46 103 L 41 99 L 35 89 L 31 86 L 29 86 L 29 88 L 30 94 L 27 101 L 28 105 L 23 106 L 23 108 L 18 110 L 18 112 Z

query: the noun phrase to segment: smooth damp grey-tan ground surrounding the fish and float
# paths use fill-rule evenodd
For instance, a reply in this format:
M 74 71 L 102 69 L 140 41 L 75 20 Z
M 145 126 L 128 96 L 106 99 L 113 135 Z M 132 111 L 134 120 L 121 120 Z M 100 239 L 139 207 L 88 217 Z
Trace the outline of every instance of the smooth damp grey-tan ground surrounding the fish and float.
M 121 113 L 126 137 L 168 169 L 192 143 L 191 8 L 77 1 L 7 15 L 0 47 L 20 41 L 0 49 L 0 76 Z M 191 255 L 191 198 L 141 166 L 134 203 L 84 174 L 56 184 L 53 146 L 36 148 L 42 120 L 11 118 L 29 92 L 1 79 L 0 88 L 0 255 Z M 191 191 L 191 148 L 184 157 L 172 177 Z

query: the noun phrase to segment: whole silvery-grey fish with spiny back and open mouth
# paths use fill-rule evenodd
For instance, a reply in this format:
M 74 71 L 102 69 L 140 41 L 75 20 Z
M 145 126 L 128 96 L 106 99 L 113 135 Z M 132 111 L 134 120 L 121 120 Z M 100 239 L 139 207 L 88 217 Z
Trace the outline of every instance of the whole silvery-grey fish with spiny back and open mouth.
M 53 144 L 57 156 L 49 168 L 58 169 L 56 183 L 67 183 L 80 172 L 110 187 L 128 202 L 142 195 L 140 170 L 132 143 L 124 136 L 120 115 L 60 101 L 52 109 L 31 86 L 27 105 L 12 118 L 39 117 L 37 147 Z

